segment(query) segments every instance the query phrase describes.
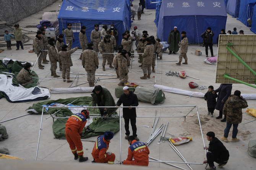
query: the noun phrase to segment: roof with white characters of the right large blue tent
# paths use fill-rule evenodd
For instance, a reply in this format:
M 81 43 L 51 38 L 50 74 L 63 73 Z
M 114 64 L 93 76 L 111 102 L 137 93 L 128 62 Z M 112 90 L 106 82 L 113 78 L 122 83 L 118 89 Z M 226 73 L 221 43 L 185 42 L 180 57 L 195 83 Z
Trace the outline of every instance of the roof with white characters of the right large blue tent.
M 227 16 L 224 0 L 162 0 L 163 16 Z

